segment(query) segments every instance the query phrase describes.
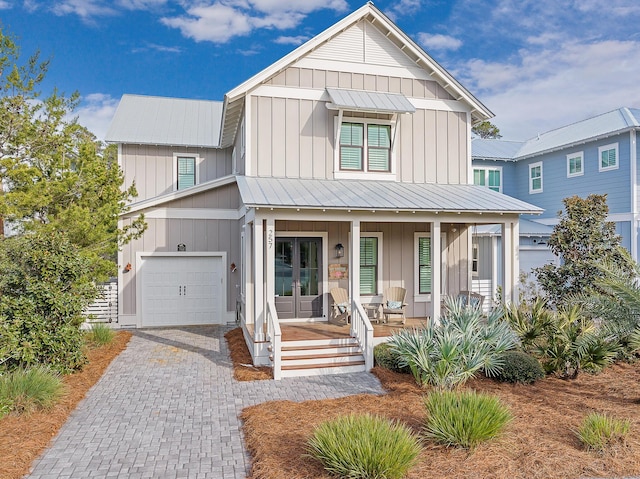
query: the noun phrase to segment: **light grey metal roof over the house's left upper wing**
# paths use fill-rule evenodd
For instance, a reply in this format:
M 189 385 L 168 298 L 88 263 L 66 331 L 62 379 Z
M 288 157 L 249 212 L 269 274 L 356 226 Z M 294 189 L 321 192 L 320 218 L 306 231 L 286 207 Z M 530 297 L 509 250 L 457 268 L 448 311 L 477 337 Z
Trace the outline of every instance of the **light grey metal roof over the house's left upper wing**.
M 123 95 L 106 141 L 218 147 L 222 102 Z

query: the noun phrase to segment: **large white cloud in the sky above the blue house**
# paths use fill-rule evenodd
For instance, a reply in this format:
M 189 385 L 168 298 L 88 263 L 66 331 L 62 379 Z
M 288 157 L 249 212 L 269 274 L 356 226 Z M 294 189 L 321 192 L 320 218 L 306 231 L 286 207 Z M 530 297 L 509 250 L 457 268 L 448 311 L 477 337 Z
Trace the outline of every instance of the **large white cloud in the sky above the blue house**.
M 570 41 L 523 49 L 510 61 L 473 60 L 463 83 L 496 114 L 505 139 L 522 140 L 622 106 L 640 106 L 640 42 Z

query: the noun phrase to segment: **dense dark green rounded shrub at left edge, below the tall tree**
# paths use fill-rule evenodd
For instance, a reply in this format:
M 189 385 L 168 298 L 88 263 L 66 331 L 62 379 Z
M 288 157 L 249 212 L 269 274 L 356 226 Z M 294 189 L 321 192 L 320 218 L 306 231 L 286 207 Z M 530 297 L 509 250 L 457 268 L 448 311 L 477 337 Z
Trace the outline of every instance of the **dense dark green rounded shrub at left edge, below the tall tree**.
M 81 368 L 82 312 L 96 295 L 88 260 L 62 233 L 1 241 L 0 364 Z

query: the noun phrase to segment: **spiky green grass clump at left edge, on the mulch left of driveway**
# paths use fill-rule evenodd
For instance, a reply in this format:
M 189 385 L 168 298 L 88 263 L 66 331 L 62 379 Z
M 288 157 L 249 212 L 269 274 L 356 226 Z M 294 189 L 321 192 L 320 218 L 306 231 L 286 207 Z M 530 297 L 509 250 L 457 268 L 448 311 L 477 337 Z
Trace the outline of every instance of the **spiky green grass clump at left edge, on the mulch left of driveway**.
M 0 376 L 0 417 L 2 411 L 47 409 L 60 399 L 63 391 L 60 377 L 51 370 L 42 366 L 18 368 Z

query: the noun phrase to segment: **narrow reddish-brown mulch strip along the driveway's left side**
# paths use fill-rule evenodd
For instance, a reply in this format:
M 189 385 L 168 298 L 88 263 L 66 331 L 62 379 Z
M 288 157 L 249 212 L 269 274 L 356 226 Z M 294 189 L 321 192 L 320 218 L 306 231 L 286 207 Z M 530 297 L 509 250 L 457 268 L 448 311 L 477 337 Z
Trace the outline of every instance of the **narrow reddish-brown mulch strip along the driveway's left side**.
M 31 463 L 49 445 L 111 361 L 127 347 L 130 338 L 130 332 L 118 331 L 111 344 L 89 349 L 89 363 L 82 371 L 63 378 L 65 395 L 53 408 L 0 419 L 0 478 L 19 479 L 29 472 Z

